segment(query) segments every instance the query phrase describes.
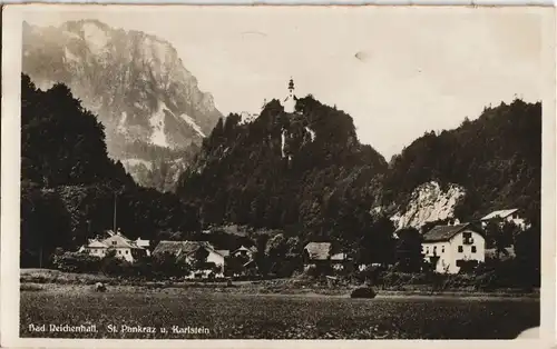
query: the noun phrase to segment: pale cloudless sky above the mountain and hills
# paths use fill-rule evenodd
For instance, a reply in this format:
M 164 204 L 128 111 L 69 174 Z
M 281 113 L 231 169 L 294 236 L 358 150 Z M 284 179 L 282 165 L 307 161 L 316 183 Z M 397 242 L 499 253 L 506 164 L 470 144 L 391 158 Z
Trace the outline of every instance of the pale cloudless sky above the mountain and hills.
M 539 8 L 133 7 L 36 11 L 39 26 L 98 19 L 170 42 L 224 114 L 312 93 L 348 112 L 388 160 L 487 106 L 541 100 Z

